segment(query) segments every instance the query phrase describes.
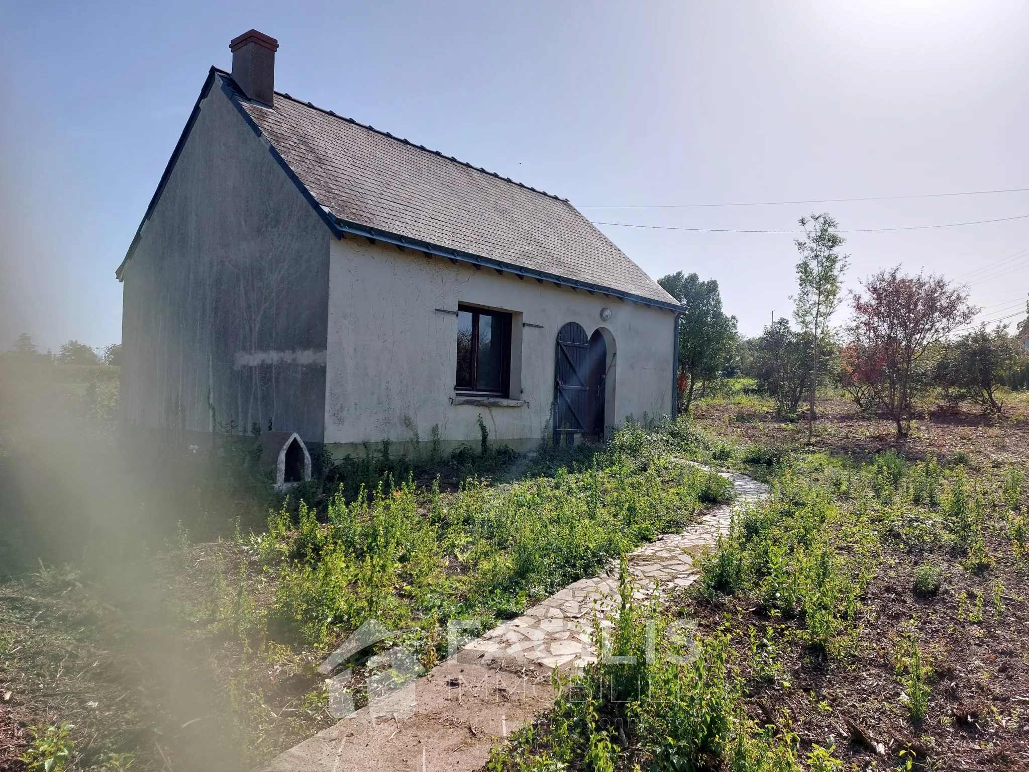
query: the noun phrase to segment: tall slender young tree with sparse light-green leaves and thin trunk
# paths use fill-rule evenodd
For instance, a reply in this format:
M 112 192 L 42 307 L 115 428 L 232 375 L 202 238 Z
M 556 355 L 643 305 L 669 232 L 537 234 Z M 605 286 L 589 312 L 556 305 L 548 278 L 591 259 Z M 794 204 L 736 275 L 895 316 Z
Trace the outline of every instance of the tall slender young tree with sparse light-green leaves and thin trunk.
M 811 378 L 808 379 L 808 443 L 815 421 L 815 390 L 818 386 L 821 349 L 829 329 L 829 319 L 840 308 L 841 283 L 847 271 L 847 255 L 837 249 L 845 239 L 837 233 L 839 225 L 826 213 L 812 214 L 799 220 L 805 238 L 795 239 L 801 259 L 796 264 L 796 295 L 793 318 L 801 330 L 810 337 Z

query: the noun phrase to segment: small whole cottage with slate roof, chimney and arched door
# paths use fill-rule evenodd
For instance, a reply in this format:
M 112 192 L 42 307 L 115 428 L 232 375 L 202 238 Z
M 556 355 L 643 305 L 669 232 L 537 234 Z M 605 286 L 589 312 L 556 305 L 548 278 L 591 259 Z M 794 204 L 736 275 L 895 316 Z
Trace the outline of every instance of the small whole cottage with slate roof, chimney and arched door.
M 259 435 L 281 483 L 672 414 L 657 282 L 567 200 L 275 91 L 277 48 L 208 73 L 117 269 L 127 429 Z

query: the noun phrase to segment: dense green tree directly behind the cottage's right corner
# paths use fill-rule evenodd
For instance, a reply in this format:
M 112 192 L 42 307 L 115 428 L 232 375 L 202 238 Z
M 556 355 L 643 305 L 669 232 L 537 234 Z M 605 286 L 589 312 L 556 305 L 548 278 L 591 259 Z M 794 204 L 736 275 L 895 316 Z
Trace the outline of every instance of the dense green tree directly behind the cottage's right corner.
M 721 294 L 714 279 L 701 281 L 681 271 L 658 280 L 665 291 L 685 307 L 679 316 L 679 377 L 686 383 L 678 398 L 682 412 L 689 410 L 698 384 L 721 377 L 736 349 L 736 317 L 721 310 Z

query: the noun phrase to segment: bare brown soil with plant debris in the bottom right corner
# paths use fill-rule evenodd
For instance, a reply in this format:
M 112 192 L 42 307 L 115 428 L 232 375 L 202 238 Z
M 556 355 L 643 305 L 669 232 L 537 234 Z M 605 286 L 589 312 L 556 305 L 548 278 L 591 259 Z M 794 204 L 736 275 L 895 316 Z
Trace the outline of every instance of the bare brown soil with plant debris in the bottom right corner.
M 836 745 L 847 769 L 894 769 L 901 748 L 929 758 L 938 770 L 1029 770 L 1029 582 L 1016 568 L 999 537 L 987 539 L 998 564 L 988 576 L 977 576 L 956 564 L 944 566 L 939 590 L 922 598 L 912 591 L 920 551 L 890 551 L 890 570 L 877 575 L 862 603 L 860 645 L 853 659 L 826 662 L 783 643 L 788 625 L 759 610 L 726 608 L 690 601 L 689 613 L 701 629 L 714 630 L 724 613 L 733 625 L 753 626 L 779 641 L 784 673 L 774 685 L 751 678 L 748 713 L 761 724 L 782 723 L 788 709 L 793 731 L 807 752 L 814 743 Z M 1003 583 L 994 606 L 993 583 Z M 959 613 L 956 595 L 984 598 L 982 622 Z M 926 717 L 913 725 L 894 677 L 893 654 L 903 624 L 917 617 L 920 645 L 934 671 Z M 961 619 L 963 617 L 963 619 Z M 748 652 L 738 651 L 740 661 Z M 787 686 L 788 685 L 788 686 Z M 881 747 L 881 751 L 879 748 Z M 856 765 L 856 766 L 850 766 Z M 879 766 L 875 766 L 879 765 Z

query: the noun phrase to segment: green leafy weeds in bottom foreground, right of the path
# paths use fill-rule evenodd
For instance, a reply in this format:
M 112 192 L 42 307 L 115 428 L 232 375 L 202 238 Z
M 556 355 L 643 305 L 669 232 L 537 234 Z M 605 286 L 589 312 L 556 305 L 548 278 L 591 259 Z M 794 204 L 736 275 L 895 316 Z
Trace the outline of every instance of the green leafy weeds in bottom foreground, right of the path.
M 638 609 L 625 562 L 620 573 L 611 640 L 594 634 L 606 656 L 581 676 L 557 673 L 553 712 L 494 748 L 489 770 L 639 769 L 640 758 L 662 772 L 838 769 L 830 750 L 801 752 L 788 716 L 758 726 L 747 715 L 729 625 L 704 640 L 683 634 L 681 620 Z

